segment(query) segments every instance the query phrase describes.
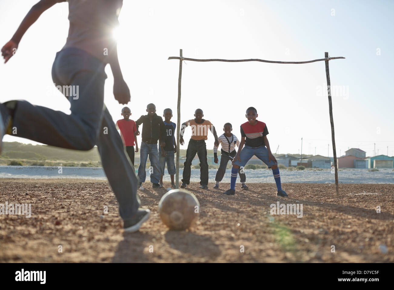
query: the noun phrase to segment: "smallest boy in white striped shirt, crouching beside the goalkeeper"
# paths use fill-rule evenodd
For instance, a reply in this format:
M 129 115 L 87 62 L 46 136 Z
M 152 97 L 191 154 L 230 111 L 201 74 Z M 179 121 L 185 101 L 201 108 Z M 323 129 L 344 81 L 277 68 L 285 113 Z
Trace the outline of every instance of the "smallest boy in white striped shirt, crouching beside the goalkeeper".
M 229 163 L 230 160 L 232 161 L 232 159 L 237 153 L 235 150 L 235 145 L 240 146 L 240 141 L 238 140 L 238 138 L 231 133 L 232 125 L 230 123 L 224 124 L 223 131 L 224 134 L 220 135 L 220 137 L 217 138 L 222 148 L 220 150 L 221 151 L 220 165 L 219 168 L 217 169 L 216 177 L 215 177 L 215 181 L 216 181 L 216 185 L 214 186 L 215 189 L 219 188 L 219 182 L 222 181 L 223 176 L 226 173 L 227 163 Z M 219 148 L 219 146 L 214 146 L 215 163 L 218 163 L 219 161 L 217 159 L 217 148 Z M 245 172 L 243 172 L 243 170 L 241 172 L 239 169 L 238 174 L 240 174 L 240 178 L 241 178 L 241 183 L 242 183 L 241 188 L 249 189 L 247 185 L 245 185 L 245 180 L 246 180 Z

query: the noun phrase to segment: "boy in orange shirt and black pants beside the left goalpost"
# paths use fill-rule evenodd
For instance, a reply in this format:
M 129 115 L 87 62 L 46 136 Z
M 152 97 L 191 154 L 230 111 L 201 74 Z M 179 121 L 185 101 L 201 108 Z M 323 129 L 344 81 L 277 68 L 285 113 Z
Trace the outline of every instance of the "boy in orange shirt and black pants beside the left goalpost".
M 186 150 L 186 161 L 183 168 L 182 185 L 184 188 L 187 184 L 190 184 L 190 167 L 191 161 L 195 157 L 196 153 L 200 160 L 200 188 L 208 189 L 208 162 L 206 160 L 206 144 L 205 140 L 208 139 L 208 131 L 211 131 L 215 137 L 215 146 L 219 146 L 217 140 L 216 129 L 214 125 L 208 120 L 204 120 L 203 110 L 197 109 L 194 112 L 194 119 L 184 122 L 180 130 L 180 144 L 184 144 L 183 134 L 187 126 L 191 127 L 191 138 L 188 144 L 188 150 Z

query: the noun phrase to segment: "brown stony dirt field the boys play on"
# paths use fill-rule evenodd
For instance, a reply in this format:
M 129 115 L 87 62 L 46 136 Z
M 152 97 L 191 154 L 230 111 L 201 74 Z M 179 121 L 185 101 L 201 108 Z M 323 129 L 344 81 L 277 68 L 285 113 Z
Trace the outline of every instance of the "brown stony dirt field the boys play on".
M 31 218 L 0 215 L 0 262 L 394 262 L 393 184 L 340 184 L 335 197 L 335 185 L 284 183 L 289 197 L 278 198 L 274 183 L 237 184 L 234 196 L 222 194 L 228 183 L 219 191 L 193 183 L 201 214 L 186 232 L 160 220 L 166 190 L 144 185 L 151 218 L 123 234 L 106 182 L 0 180 L 0 204 L 32 204 Z M 277 201 L 303 204 L 303 217 L 270 215 Z

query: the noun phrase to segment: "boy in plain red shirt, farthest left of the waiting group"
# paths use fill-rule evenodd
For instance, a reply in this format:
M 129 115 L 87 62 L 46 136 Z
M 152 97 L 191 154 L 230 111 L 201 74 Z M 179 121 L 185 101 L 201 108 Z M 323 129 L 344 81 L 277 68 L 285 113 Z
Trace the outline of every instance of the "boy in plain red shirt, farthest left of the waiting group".
M 123 145 L 126 146 L 126 152 L 128 154 L 128 157 L 130 157 L 131 163 L 134 166 L 134 145 L 136 145 L 135 152 L 138 152 L 136 122 L 129 119 L 131 115 L 131 110 L 128 107 L 124 107 L 122 109 L 121 115 L 123 116 L 123 119 L 116 121 L 116 129 L 119 129 L 121 131 Z M 134 142 L 136 144 L 134 144 Z

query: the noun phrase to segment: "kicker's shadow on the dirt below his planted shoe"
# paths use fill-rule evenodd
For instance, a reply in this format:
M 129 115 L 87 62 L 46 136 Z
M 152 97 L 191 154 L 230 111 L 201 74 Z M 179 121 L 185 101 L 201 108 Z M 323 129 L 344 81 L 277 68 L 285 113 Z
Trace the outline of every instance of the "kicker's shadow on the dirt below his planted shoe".
M 118 243 L 112 263 L 148 262 L 149 255 L 144 251 L 147 246 L 144 241 L 151 241 L 154 236 L 143 232 L 123 233 L 123 240 Z

